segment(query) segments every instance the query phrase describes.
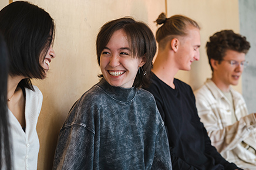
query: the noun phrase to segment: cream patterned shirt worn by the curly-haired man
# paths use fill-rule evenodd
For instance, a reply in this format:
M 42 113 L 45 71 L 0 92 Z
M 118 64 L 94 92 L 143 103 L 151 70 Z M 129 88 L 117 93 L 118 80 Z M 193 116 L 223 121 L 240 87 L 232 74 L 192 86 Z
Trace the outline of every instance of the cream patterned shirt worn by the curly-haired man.
M 231 103 L 220 89 L 207 79 L 195 91 L 198 115 L 208 131 L 211 144 L 229 162 L 244 169 L 256 169 L 256 118 L 248 114 L 244 98 L 230 88 L 237 122 L 228 124 L 225 117 L 231 113 Z

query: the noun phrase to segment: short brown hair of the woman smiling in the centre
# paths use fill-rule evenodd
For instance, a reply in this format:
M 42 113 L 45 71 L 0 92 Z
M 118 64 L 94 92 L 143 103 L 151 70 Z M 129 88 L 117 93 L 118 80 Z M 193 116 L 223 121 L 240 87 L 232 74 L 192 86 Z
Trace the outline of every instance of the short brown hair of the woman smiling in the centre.
M 105 49 L 111 36 L 117 30 L 124 30 L 127 35 L 130 49 L 134 57 L 145 57 L 146 63 L 142 66 L 142 72 L 137 72 L 133 86 L 136 88 L 147 87 L 150 83 L 151 69 L 153 67 L 152 60 L 156 54 L 156 40 L 154 35 L 145 23 L 135 21 L 133 18 L 124 17 L 105 23 L 100 29 L 96 40 L 97 61 L 100 65 L 100 55 Z M 102 74 L 99 77 L 103 77 Z

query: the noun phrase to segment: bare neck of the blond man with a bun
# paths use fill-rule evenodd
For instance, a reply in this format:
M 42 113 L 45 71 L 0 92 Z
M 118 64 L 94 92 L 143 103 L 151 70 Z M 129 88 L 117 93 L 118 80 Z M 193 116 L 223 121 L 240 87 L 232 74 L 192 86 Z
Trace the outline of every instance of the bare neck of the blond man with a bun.
M 157 54 L 156 60 L 154 61 L 154 66 L 152 72 L 159 77 L 160 80 L 164 81 L 171 88 L 175 89 L 174 86 L 174 76 L 177 74 L 178 69 L 172 61 L 171 52 L 169 51 L 160 51 Z

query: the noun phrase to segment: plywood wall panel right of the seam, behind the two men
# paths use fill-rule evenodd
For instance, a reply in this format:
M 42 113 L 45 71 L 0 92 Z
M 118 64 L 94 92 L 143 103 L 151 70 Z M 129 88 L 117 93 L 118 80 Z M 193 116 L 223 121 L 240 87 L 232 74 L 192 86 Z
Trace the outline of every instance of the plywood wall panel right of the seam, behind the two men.
M 206 55 L 206 42 L 215 32 L 223 29 L 233 29 L 239 33 L 239 12 L 237 0 L 179 0 L 167 1 L 167 15 L 186 15 L 201 27 L 200 60 L 193 62 L 190 72 L 179 71 L 177 78 L 190 84 L 193 90 L 203 85 L 206 78 L 211 77 L 211 68 Z M 241 92 L 240 84 L 234 89 Z

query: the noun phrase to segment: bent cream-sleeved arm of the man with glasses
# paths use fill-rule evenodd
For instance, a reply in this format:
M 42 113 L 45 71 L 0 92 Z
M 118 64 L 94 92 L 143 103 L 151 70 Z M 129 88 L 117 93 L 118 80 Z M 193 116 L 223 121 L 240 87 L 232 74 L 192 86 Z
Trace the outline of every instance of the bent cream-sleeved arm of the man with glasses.
M 231 150 L 250 134 L 251 124 L 256 124 L 255 118 L 253 118 L 254 115 L 246 115 L 236 123 L 223 127 L 224 114 L 220 112 L 224 109 L 217 102 L 210 103 L 210 97 L 206 98 L 207 95 L 207 93 L 196 94 L 198 115 L 208 131 L 211 143 L 217 148 L 218 152 Z

